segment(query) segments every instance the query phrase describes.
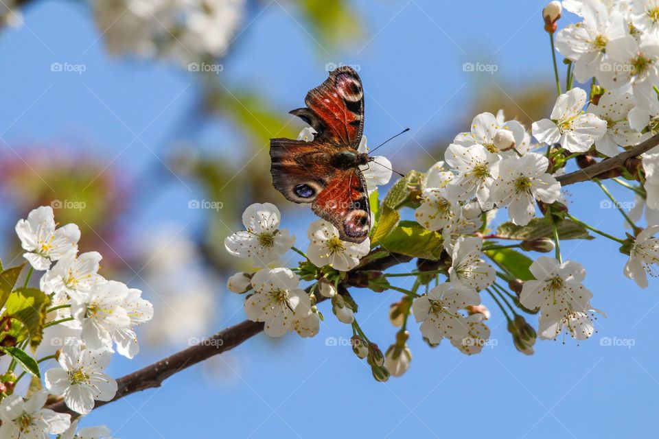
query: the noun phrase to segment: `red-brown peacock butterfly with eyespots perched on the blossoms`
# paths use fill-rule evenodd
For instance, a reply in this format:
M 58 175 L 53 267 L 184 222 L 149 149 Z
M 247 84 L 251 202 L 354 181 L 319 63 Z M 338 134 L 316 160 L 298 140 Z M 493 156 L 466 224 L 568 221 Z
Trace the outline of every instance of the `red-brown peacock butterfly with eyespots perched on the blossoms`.
M 304 102 L 290 114 L 317 134 L 312 141 L 270 139 L 273 186 L 292 202 L 311 203 L 343 241 L 360 243 L 371 230 L 371 207 L 359 167 L 373 161 L 357 150 L 364 132 L 362 82 L 351 67 L 338 67 Z

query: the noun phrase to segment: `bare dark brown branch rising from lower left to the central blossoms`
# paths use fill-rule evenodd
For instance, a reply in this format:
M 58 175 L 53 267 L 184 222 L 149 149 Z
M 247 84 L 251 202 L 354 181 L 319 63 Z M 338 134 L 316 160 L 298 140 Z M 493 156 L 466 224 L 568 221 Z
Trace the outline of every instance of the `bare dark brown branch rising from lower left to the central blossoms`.
M 365 265 L 354 270 L 354 272 L 349 272 L 343 285 L 364 286 L 360 283 L 362 281 L 362 276 L 359 276 L 360 272 L 386 270 L 386 268 L 408 262 L 411 259 L 411 257 L 402 254 L 390 254 L 387 257 L 367 262 Z M 323 300 L 325 300 L 323 296 L 316 298 L 317 302 Z M 183 351 L 125 375 L 117 379 L 117 394 L 115 394 L 115 397 L 111 401 L 96 401 L 94 408 L 96 409 L 112 401 L 117 401 L 117 399 L 124 398 L 124 396 L 128 396 L 131 393 L 160 387 L 165 379 L 214 355 L 230 351 L 235 346 L 242 344 L 242 342 L 263 331 L 263 327 L 264 324 L 262 322 L 244 320 L 233 325 L 233 327 L 223 329 L 215 335 L 203 339 L 199 344 L 190 346 Z M 47 405 L 46 408 L 60 413 L 68 413 L 71 416 L 80 416 L 69 409 L 64 401 L 56 401 Z

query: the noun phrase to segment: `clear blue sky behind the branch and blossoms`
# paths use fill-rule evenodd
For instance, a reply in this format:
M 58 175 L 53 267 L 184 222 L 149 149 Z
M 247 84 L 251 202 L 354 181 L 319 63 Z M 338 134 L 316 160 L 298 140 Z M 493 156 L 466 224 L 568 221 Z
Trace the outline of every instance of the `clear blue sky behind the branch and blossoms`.
M 265 4 L 224 67 L 227 82 L 262 91 L 284 114 L 325 79 L 325 64 L 358 64 L 369 139 L 412 128 L 411 137 L 381 150 L 399 169 L 406 169 L 408 157 L 427 154 L 424 142 L 436 134 L 467 130 L 456 123 L 478 87 L 463 63 L 496 64 L 492 81 L 509 91 L 516 84 L 552 81 L 540 17 L 544 2 L 357 1 L 365 36 L 327 52 L 316 47 L 290 4 Z M 26 145 L 57 141 L 84 147 L 128 176 L 152 169 L 196 102 L 200 88 L 193 75 L 163 63 L 109 57 L 84 4 L 36 2 L 25 21 L 27 26 L 0 39 L 0 125 L 8 126 L 0 137 L 21 155 L 29 152 Z M 52 62 L 84 64 L 86 71 L 53 73 Z M 211 154 L 240 157 L 232 150 L 240 137 L 231 126 L 209 126 L 199 139 Z M 618 187 L 611 189 L 620 200 L 630 199 Z M 622 235 L 620 215 L 600 209 L 605 198 L 594 184 L 568 191 L 575 216 Z M 195 212 L 183 209 L 187 199 L 203 198 L 194 185 L 172 179 L 144 196 L 153 203 L 135 216 L 128 233 L 159 220 L 192 220 L 194 233 L 201 223 Z M 299 226 L 298 236 L 312 216 L 301 218 L 286 224 L 284 217 L 286 225 Z M 607 314 L 597 320 L 592 339 L 579 345 L 538 342 L 535 355 L 518 353 L 505 320 L 486 297 L 496 346 L 472 357 L 448 344 L 428 348 L 412 325 L 411 369 L 400 379 L 377 383 L 365 362 L 340 346 L 351 336 L 349 327 L 325 310 L 328 318 L 313 339 L 290 335 L 273 341 L 259 335 L 213 359 L 216 374 L 195 366 L 162 388 L 102 407 L 83 425 L 107 424 L 124 439 L 656 436 L 649 416 L 659 408 L 656 280 L 640 290 L 623 277 L 626 258 L 610 241 L 566 242 L 563 249 L 564 258 L 586 266 L 592 303 Z M 222 290 L 218 285 L 217 329 L 243 318 L 241 298 Z M 395 334 L 386 311 L 397 294 L 364 290 L 354 296 L 362 327 L 385 348 Z M 627 346 L 602 346 L 603 337 Z M 333 340 L 338 346 L 330 346 Z M 169 351 L 147 350 L 133 361 L 117 357 L 111 373 L 124 375 Z

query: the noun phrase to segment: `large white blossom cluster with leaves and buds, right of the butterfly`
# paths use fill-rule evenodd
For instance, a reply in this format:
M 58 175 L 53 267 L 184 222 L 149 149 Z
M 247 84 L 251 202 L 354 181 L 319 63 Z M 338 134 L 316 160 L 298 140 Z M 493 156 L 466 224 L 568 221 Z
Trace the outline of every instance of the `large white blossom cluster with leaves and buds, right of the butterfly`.
M 563 7 L 583 21 L 558 29 Z M 309 246 L 303 252 L 294 247 L 294 236 L 279 228 L 276 206 L 253 204 L 246 209 L 246 230 L 224 244 L 229 253 L 251 258 L 257 268 L 228 282 L 232 292 L 248 293 L 244 307 L 249 319 L 264 322 L 271 336 L 297 331 L 310 337 L 323 320 L 316 302 L 328 298 L 338 320 L 353 328 L 356 355 L 367 358 L 373 376 L 384 381 L 402 375 L 411 363 L 406 344 L 410 315 L 431 346 L 446 338 L 463 353 L 481 352 L 490 336 L 490 311 L 481 300 L 485 293 L 507 318 L 522 353 L 533 353 L 536 337 L 591 337 L 596 316 L 603 312 L 591 304 L 583 266 L 563 260 L 562 239 L 590 239 L 591 232 L 612 239 L 629 256 L 623 273 L 647 287 L 647 274 L 655 276 L 659 263 L 659 239 L 654 237 L 659 231 L 659 153 L 638 154 L 594 180 L 616 206 L 601 179 L 614 178 L 642 201 L 640 209 L 618 209 L 632 228 L 624 238 L 575 218 L 559 181 L 572 163 L 593 165 L 658 132 L 659 3 L 553 1 L 543 17 L 544 29 L 568 66 L 565 91 L 556 77 L 557 99 L 548 117 L 527 129 L 507 120 L 502 111 L 476 115 L 470 129 L 446 147 L 443 161 L 424 174 L 411 171 L 382 201 L 371 196 L 378 214 L 371 217 L 370 239 L 361 244 L 342 241 L 338 230 L 320 219 L 309 226 Z M 575 80 L 590 89 L 573 85 Z M 298 139 L 309 141 L 314 134 L 305 128 Z M 377 176 L 362 171 L 369 194 L 377 195 L 375 187 L 391 177 L 384 171 L 391 163 L 380 157 L 374 161 L 384 165 Z M 394 198 L 397 202 L 391 204 Z M 402 219 L 405 207 L 413 209 L 415 221 Z M 647 227 L 642 228 L 634 221 L 644 207 Z M 508 222 L 493 230 L 500 211 L 507 213 Z M 506 244 L 511 241 L 518 243 Z M 424 248 L 417 248 L 419 242 Z M 286 268 L 287 260 L 281 261 L 289 250 L 303 257 L 298 267 Z M 533 261 L 520 250 L 555 252 L 555 257 Z M 360 272 L 373 259 L 396 254 L 417 258 L 418 269 L 407 274 Z M 391 276 L 412 276 L 415 284 L 404 289 L 393 285 Z M 440 281 L 440 276 L 445 279 Z M 303 289 L 303 281 L 311 283 Z M 391 305 L 391 322 L 400 331 L 384 355 L 356 320 L 358 305 L 346 288 L 355 283 L 375 292 L 393 289 L 403 294 Z M 425 292 L 419 294 L 422 287 Z M 537 332 L 518 311 L 537 313 Z

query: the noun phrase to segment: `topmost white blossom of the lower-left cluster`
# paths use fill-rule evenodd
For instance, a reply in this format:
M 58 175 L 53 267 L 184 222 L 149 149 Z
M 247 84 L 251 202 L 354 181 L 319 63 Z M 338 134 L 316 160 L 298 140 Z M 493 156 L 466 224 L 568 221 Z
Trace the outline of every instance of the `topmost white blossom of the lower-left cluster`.
M 51 261 L 78 251 L 80 228 L 76 224 L 56 228 L 51 206 L 41 206 L 27 215 L 27 221 L 19 220 L 16 235 L 19 235 L 23 249 L 27 250 L 23 257 L 35 270 L 47 270 Z

